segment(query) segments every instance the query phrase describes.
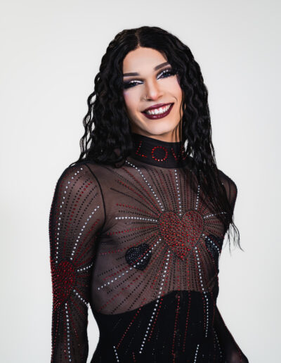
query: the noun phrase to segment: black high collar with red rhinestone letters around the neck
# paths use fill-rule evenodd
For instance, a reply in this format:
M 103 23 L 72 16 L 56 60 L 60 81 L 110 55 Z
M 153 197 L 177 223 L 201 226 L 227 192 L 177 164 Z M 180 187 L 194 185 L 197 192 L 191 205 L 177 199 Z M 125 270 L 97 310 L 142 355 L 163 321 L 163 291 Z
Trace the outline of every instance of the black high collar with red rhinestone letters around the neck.
M 183 167 L 188 157 L 181 141 L 168 142 L 141 134 L 131 133 L 131 158 L 159 167 Z

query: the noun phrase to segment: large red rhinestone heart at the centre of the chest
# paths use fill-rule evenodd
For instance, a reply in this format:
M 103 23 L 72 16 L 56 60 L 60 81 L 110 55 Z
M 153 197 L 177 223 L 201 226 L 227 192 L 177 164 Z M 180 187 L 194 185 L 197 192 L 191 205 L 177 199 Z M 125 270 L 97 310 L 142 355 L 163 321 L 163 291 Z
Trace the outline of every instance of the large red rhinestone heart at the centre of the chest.
M 178 217 L 174 212 L 164 212 L 159 218 L 162 238 L 182 260 L 196 245 L 203 228 L 204 219 L 195 210 L 189 210 L 183 217 Z

